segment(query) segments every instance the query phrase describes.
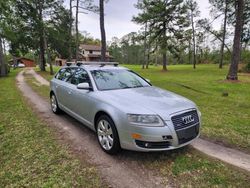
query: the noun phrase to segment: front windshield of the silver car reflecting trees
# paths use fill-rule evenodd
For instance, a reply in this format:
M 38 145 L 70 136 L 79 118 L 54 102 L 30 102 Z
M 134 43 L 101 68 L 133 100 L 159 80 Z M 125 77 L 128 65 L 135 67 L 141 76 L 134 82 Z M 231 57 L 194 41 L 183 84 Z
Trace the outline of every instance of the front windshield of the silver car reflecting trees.
M 91 74 L 99 90 L 150 86 L 143 78 L 129 70 L 93 70 Z

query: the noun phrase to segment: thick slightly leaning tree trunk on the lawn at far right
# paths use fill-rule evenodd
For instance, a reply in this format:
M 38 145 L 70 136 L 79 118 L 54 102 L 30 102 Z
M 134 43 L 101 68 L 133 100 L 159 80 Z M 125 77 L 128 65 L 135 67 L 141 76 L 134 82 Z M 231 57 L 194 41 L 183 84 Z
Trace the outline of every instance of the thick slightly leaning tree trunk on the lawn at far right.
M 231 58 L 231 66 L 227 75 L 228 80 L 238 80 L 238 64 L 241 52 L 241 34 L 243 29 L 243 11 L 244 0 L 237 1 L 236 25 L 234 33 L 233 54 Z

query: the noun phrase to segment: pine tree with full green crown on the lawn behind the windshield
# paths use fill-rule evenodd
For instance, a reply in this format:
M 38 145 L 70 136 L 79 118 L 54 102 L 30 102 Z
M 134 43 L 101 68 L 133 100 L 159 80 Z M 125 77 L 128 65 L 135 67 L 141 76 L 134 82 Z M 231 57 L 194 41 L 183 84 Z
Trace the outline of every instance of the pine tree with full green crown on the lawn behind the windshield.
M 148 22 L 151 41 L 158 42 L 166 71 L 168 42 L 173 37 L 182 37 L 184 28 L 189 25 L 187 7 L 183 0 L 139 0 L 136 7 L 142 12 L 133 21 L 142 25 Z

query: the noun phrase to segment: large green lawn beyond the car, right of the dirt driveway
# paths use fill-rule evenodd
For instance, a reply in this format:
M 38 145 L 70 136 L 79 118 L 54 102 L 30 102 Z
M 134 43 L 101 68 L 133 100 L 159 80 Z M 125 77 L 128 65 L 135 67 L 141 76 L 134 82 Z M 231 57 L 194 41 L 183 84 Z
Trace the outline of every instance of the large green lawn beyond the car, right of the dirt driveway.
M 250 153 L 250 75 L 239 74 L 239 83 L 225 82 L 228 67 L 217 65 L 171 65 L 168 72 L 161 66 L 141 69 L 124 65 L 151 80 L 152 84 L 193 100 L 202 112 L 202 137 Z M 55 71 L 58 67 L 54 68 Z M 47 80 L 48 72 L 39 72 Z M 229 94 L 223 97 L 222 93 Z

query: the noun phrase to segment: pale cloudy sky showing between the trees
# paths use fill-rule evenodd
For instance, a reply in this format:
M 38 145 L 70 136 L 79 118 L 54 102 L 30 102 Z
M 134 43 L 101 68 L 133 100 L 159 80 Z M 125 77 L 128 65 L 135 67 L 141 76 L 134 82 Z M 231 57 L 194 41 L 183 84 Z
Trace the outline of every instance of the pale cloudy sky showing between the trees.
M 131 21 L 133 15 L 137 15 L 138 10 L 134 7 L 137 0 L 109 0 L 105 5 L 105 26 L 107 40 L 112 37 L 122 37 L 132 31 L 138 31 L 139 25 Z M 197 0 L 202 18 L 209 17 L 208 0 Z M 98 0 L 95 0 L 98 4 Z M 68 6 L 68 0 L 65 2 Z M 215 27 L 219 27 L 219 23 L 215 23 Z M 80 14 L 79 30 L 87 31 L 91 36 L 100 38 L 99 16 L 93 13 Z

